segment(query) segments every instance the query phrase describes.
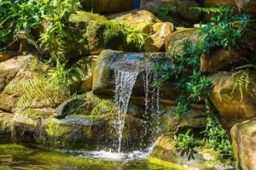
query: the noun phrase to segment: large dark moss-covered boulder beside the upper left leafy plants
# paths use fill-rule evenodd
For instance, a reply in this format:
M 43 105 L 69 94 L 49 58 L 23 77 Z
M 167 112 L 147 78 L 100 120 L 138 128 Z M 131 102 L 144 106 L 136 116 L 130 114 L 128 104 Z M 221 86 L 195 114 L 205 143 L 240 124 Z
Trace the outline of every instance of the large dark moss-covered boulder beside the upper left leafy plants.
M 43 24 L 39 33 L 46 31 Z M 125 36 L 117 24 L 99 14 L 76 11 L 67 17 L 66 59 L 79 59 L 81 56 L 100 54 L 102 49 L 123 49 Z M 54 46 L 55 47 L 55 46 Z

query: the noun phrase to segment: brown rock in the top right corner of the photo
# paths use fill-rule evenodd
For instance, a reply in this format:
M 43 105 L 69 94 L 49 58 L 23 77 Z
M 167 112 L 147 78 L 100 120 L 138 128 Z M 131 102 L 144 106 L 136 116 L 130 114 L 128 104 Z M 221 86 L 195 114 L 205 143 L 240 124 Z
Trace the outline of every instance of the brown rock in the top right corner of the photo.
M 251 17 L 256 17 L 256 2 L 254 0 L 235 0 L 235 2 L 241 14 L 250 14 Z

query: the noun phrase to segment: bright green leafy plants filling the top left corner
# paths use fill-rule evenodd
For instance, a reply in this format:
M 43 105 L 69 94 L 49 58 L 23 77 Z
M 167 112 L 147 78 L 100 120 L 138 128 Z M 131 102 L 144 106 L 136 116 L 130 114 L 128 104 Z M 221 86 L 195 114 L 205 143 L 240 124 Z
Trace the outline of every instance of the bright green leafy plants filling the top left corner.
M 63 19 L 79 8 L 78 0 L 0 0 L 0 42 L 4 42 L 14 31 L 31 33 L 42 23 L 49 27 L 39 42 L 54 59 L 65 53 L 65 39 L 71 38 L 65 30 Z

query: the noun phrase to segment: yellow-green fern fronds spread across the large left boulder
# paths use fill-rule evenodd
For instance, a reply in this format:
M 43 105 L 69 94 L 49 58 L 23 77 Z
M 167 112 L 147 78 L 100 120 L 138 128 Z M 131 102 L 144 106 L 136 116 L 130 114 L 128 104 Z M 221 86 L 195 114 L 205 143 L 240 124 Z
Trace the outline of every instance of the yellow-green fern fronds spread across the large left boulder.
M 65 64 L 57 63 L 55 69 L 49 72 L 42 72 L 39 75 L 35 73 L 34 77 L 20 80 L 20 82 L 9 84 L 5 88 L 7 93 L 17 93 L 22 91 L 17 107 L 24 110 L 27 107 L 38 102 L 41 105 L 55 105 L 61 99 L 67 99 L 71 96 L 70 85 L 73 82 L 73 68 L 65 68 Z M 42 103 L 41 103 L 42 102 Z

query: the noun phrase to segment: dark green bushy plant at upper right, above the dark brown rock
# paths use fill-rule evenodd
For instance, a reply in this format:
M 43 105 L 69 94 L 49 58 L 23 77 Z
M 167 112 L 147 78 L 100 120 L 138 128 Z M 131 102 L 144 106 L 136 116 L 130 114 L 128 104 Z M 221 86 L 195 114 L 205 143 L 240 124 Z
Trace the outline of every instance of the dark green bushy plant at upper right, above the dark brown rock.
M 201 37 L 204 39 L 202 50 L 210 53 L 212 48 L 225 48 L 230 51 L 236 48 L 248 22 L 247 14 L 238 17 L 232 15 L 228 7 L 218 8 L 216 17 L 212 17 L 209 24 L 201 27 Z

